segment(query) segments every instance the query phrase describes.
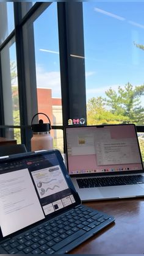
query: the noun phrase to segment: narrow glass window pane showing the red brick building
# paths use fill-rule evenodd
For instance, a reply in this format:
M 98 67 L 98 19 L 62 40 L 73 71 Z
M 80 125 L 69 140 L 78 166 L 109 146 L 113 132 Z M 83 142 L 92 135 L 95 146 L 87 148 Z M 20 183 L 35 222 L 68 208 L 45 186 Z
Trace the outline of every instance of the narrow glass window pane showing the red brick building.
M 57 3 L 52 3 L 34 22 L 38 112 L 51 125 L 62 125 Z M 40 117 L 48 123 L 45 115 Z M 54 147 L 63 149 L 62 130 L 51 130 Z

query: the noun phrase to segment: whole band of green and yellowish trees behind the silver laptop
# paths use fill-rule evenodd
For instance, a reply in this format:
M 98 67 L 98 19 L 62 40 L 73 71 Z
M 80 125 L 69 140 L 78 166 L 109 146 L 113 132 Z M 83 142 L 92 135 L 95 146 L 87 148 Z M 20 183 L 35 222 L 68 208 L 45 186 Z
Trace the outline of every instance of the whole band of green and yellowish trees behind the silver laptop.
M 112 88 L 106 91 L 107 98 L 93 97 L 87 103 L 88 125 L 104 123 L 144 122 L 144 108 L 140 97 L 144 94 L 144 85 L 133 87 L 129 82 L 118 92 Z

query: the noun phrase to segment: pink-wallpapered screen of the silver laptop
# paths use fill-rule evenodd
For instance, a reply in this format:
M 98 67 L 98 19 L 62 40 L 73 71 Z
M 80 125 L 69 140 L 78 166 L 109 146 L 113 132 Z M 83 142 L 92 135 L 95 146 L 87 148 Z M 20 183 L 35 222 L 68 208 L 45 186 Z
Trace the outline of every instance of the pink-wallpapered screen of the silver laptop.
M 65 128 L 68 172 L 112 174 L 143 169 L 135 125 Z

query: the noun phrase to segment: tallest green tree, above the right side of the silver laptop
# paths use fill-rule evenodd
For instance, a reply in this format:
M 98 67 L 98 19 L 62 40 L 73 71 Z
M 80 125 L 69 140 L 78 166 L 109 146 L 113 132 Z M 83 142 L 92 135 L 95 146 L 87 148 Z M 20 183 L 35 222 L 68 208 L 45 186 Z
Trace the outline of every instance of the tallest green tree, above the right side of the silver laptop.
M 112 88 L 106 91 L 106 102 L 110 112 L 124 117 L 124 123 L 134 122 L 141 125 L 144 122 L 144 108 L 140 105 L 140 97 L 144 94 L 144 85 L 133 87 L 128 82 L 124 89 L 118 87 L 118 93 Z

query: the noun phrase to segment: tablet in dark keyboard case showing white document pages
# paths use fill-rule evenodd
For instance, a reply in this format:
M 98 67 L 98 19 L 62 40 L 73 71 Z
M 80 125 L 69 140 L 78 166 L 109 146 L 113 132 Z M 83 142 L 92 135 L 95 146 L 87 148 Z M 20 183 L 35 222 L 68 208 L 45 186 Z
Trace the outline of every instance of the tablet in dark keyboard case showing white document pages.
M 85 207 L 58 150 L 0 159 L 0 253 L 65 254 L 114 221 Z

